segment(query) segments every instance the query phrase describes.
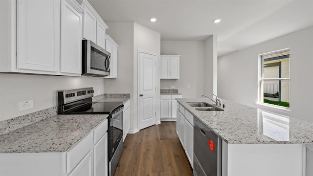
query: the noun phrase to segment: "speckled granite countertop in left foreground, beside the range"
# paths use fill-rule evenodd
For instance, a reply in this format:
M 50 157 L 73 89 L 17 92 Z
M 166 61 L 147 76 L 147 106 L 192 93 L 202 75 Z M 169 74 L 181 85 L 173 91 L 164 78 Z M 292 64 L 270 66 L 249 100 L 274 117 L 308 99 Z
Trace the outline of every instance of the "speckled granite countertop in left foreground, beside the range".
M 55 115 L 0 135 L 0 153 L 66 152 L 108 115 Z

